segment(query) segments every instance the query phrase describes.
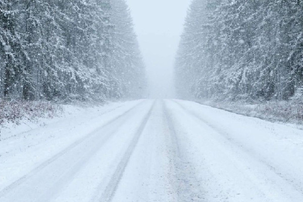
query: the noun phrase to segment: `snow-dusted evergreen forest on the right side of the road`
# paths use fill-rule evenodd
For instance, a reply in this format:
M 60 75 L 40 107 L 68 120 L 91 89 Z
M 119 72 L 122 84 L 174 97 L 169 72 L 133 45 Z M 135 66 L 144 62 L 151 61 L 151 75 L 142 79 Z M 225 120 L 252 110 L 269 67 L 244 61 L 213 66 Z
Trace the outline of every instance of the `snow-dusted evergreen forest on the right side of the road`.
M 175 62 L 181 97 L 302 96 L 303 2 L 193 0 Z

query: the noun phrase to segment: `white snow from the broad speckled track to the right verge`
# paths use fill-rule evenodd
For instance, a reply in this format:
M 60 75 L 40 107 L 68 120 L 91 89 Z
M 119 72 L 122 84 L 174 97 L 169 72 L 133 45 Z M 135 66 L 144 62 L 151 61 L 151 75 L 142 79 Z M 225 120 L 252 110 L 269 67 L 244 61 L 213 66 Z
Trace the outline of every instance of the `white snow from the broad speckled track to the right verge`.
M 170 102 L 206 201 L 302 201 L 303 131 L 192 102 Z M 186 134 L 186 135 L 185 135 Z

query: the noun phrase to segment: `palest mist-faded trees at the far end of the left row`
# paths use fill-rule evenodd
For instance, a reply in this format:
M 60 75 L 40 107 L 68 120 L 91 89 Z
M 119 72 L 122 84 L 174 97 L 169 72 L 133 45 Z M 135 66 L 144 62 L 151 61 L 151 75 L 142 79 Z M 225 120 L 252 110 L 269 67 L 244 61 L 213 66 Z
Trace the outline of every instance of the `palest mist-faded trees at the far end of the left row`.
M 145 88 L 145 69 L 129 8 L 124 0 L 114 0 L 111 16 L 113 32 L 113 65 L 123 97 L 141 97 Z

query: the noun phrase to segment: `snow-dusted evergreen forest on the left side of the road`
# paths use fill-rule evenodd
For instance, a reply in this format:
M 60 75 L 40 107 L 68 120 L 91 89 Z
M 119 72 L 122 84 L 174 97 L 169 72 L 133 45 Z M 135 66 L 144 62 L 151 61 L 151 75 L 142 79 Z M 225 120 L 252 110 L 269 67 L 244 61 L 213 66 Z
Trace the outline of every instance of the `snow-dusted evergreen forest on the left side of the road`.
M 124 0 L 0 0 L 0 99 L 138 98 L 145 86 Z

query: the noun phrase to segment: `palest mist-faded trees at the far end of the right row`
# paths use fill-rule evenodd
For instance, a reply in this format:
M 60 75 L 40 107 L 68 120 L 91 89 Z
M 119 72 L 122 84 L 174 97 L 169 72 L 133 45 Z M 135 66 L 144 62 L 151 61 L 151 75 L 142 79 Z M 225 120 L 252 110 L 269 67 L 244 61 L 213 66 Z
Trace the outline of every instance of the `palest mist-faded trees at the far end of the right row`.
M 198 67 L 203 65 L 201 58 L 204 57 L 205 52 L 201 46 L 204 46 L 207 41 L 200 37 L 201 32 L 205 31 L 203 28 L 203 21 L 206 18 L 204 10 L 203 1 L 192 2 L 177 52 L 175 83 L 179 93 L 186 96 L 193 93 L 193 88 L 200 76 Z

